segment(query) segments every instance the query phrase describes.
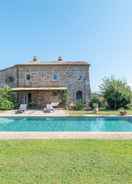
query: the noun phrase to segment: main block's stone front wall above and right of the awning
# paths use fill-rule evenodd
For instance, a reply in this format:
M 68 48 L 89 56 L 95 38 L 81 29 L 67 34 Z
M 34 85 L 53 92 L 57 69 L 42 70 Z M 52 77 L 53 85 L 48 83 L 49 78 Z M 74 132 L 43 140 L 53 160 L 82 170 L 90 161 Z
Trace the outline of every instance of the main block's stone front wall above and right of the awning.
M 52 79 L 53 73 L 60 75 L 58 81 Z M 26 75 L 30 74 L 31 79 L 27 80 Z M 20 87 L 47 87 L 65 86 L 68 89 L 69 103 L 76 102 L 76 92 L 83 92 L 83 100 L 86 104 L 90 99 L 90 82 L 88 65 L 69 66 L 20 66 L 19 67 Z

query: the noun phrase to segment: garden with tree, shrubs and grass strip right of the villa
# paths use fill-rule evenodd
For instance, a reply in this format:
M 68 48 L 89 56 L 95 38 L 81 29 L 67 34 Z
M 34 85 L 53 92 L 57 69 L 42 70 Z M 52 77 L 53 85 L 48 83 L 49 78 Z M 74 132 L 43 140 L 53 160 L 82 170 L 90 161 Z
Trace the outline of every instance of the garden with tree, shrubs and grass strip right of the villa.
M 70 114 L 126 115 L 132 114 L 132 90 L 126 81 L 114 77 L 104 78 L 99 92 L 91 94 L 90 108 L 83 101 L 76 103 Z

